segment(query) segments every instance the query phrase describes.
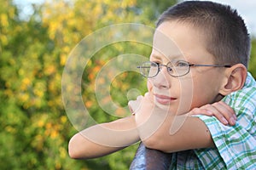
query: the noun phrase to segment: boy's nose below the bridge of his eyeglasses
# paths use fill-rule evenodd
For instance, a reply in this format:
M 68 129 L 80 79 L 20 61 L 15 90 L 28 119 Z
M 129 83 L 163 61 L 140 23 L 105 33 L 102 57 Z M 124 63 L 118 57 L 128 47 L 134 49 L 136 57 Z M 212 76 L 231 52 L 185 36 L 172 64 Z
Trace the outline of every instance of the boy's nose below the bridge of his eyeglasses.
M 158 75 L 152 78 L 152 83 L 156 88 L 170 88 L 171 87 L 171 75 L 169 75 L 166 66 L 161 66 Z

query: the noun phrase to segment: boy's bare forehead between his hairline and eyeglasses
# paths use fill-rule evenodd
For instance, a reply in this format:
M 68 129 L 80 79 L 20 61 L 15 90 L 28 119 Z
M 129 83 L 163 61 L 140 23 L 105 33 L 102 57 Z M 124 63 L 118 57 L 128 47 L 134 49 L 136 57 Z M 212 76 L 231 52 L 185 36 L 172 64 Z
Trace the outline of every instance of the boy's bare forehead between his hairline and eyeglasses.
M 207 52 L 205 37 L 199 29 L 177 21 L 163 22 L 156 29 L 152 53 L 167 59 L 212 60 L 212 55 Z

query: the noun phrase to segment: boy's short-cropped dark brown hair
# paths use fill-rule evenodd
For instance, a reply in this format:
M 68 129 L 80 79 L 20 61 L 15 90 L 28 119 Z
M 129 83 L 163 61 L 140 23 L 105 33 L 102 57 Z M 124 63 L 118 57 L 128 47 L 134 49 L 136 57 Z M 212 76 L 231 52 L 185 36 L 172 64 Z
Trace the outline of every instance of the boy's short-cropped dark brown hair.
M 250 37 L 241 16 L 230 6 L 209 1 L 178 3 L 160 16 L 157 27 L 170 20 L 201 31 L 207 51 L 214 56 L 216 64 L 241 63 L 247 67 Z

